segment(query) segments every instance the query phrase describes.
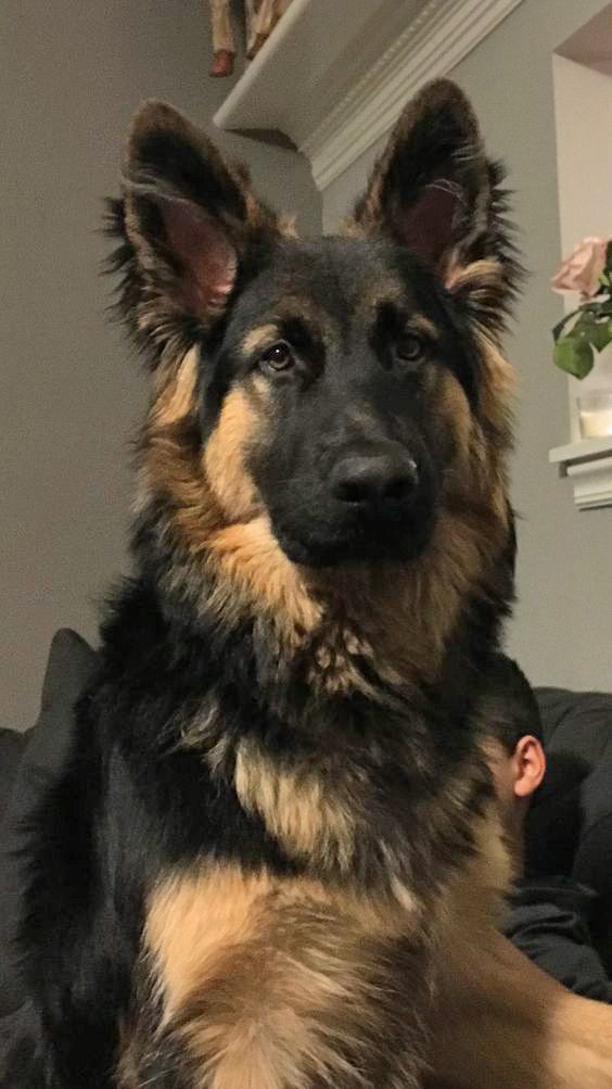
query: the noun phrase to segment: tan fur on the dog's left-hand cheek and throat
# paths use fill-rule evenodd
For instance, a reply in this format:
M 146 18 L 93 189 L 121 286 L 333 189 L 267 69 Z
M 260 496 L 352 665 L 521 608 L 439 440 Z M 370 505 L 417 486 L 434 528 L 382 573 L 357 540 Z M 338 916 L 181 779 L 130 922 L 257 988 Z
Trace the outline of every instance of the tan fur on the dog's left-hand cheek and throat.
M 266 390 L 231 390 L 200 460 L 188 448 L 183 421 L 195 413 L 196 356 L 187 353 L 158 391 L 142 443 L 140 497 L 161 490 L 173 503 L 173 526 L 193 562 L 216 576 L 210 602 L 225 615 L 261 610 L 283 643 L 297 646 L 320 616 L 303 574 L 278 546 L 244 453 L 256 441 Z

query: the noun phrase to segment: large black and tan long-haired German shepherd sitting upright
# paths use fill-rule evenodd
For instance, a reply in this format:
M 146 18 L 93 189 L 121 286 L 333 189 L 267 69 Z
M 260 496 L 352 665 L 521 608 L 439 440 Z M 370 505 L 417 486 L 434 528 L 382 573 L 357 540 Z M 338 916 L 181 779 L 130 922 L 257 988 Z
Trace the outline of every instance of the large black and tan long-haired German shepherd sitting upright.
M 576 1029 L 494 952 L 501 180 L 437 82 L 341 233 L 299 241 L 181 115 L 137 113 L 111 206 L 151 380 L 134 575 L 36 818 L 24 1087 L 612 1085 L 593 1004 Z

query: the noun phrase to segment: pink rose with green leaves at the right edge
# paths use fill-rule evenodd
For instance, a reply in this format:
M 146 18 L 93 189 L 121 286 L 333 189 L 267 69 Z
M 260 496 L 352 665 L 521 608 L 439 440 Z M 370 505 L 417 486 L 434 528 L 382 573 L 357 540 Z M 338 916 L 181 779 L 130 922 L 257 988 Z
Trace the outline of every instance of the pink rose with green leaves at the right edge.
M 552 330 L 554 362 L 575 378 L 592 370 L 595 353 L 612 341 L 612 240 L 585 238 L 551 282 L 560 295 L 579 293 L 580 305 Z

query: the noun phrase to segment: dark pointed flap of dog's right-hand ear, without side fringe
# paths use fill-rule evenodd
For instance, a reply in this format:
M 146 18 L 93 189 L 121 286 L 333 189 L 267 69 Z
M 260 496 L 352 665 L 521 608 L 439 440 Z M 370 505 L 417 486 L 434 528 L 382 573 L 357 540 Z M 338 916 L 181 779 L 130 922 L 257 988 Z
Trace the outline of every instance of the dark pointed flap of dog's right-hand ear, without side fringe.
M 487 159 L 478 122 L 453 83 L 428 84 L 405 108 L 355 219 L 443 269 L 486 225 Z

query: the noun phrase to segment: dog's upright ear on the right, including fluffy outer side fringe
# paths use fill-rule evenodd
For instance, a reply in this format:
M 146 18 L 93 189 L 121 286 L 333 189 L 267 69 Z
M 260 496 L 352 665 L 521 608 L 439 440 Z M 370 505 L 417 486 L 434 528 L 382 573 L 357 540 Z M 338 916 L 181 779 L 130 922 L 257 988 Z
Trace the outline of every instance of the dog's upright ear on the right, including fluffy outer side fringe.
M 359 232 L 391 234 L 457 292 L 465 286 L 465 269 L 487 261 L 488 270 L 480 271 L 488 272 L 495 297 L 485 297 L 480 282 L 478 304 L 489 323 L 499 325 L 518 271 L 501 180 L 501 169 L 487 159 L 467 98 L 455 84 L 439 79 L 404 109 L 357 203 L 354 223 Z

